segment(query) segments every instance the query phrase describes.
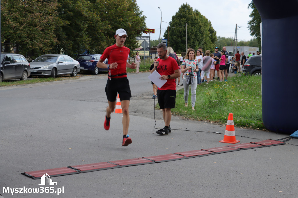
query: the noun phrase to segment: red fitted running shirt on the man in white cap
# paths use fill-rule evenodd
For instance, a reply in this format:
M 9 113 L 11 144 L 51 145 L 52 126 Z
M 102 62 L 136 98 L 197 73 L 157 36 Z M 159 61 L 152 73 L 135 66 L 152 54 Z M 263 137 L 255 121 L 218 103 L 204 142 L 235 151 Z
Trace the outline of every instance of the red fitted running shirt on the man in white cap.
M 113 62 L 117 62 L 118 66 L 116 69 L 109 69 L 111 71 L 111 75 L 126 73 L 126 60 L 128 57 L 128 54 L 130 52 L 130 49 L 123 46 L 118 47 L 116 44 L 105 48 L 105 51 L 100 56 L 101 60 L 105 60 L 108 58 L 108 64 L 112 64 Z M 127 77 L 127 75 L 123 76 L 116 76 L 112 78 L 123 78 Z

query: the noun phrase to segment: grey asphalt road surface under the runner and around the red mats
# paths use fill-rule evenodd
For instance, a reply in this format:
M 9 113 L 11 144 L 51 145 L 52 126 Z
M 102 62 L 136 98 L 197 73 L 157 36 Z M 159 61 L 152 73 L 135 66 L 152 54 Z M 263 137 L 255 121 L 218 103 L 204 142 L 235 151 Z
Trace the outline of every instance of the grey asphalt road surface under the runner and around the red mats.
M 129 74 L 132 98 L 129 134 L 122 147 L 122 114 L 103 121 L 106 76 L 0 87 L 0 193 L 5 197 L 297 197 L 297 139 L 285 145 L 198 158 L 51 177 L 64 193 L 3 193 L 7 188 L 39 188 L 25 171 L 116 161 L 226 146 L 225 127 L 172 117 L 172 133 L 154 112 L 149 73 Z M 179 87 L 179 89 L 182 87 Z M 155 100 L 155 102 L 157 102 Z M 190 131 L 187 131 L 190 130 Z M 205 132 L 197 132 L 205 131 Z M 216 134 L 210 132 L 220 132 Z M 240 143 L 288 135 L 235 128 Z M 246 136 L 246 137 L 244 137 Z M 248 138 L 250 137 L 250 138 Z M 252 138 L 252 139 L 251 139 Z

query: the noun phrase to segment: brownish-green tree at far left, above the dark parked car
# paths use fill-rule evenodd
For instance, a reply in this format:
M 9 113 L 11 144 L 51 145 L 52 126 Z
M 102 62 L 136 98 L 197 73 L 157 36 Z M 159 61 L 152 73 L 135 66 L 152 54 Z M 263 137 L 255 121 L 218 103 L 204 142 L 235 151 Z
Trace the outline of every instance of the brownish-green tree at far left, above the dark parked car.
M 19 44 L 19 53 L 25 56 L 49 53 L 61 22 L 57 7 L 56 0 L 2 0 L 1 42 Z

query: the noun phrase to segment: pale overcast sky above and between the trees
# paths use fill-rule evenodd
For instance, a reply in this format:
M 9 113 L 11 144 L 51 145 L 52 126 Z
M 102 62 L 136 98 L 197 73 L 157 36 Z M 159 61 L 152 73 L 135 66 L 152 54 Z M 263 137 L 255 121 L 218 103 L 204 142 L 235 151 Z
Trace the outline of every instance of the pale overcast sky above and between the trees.
M 221 3 L 220 3 L 221 2 Z M 238 42 L 240 40 L 250 40 L 252 36 L 249 34 L 247 23 L 251 18 L 249 17 L 252 9 L 247 6 L 251 0 L 226 0 L 226 1 L 201 1 L 201 0 L 137 0 L 140 10 L 146 18 L 146 25 L 149 29 L 155 29 L 155 34 L 150 34 L 151 40 L 159 39 L 160 17 L 162 11 L 162 21 L 170 22 L 172 16 L 178 12 L 182 3 L 187 3 L 194 9 L 197 9 L 209 21 L 216 31 L 216 36 L 232 37 L 235 35 L 235 26 L 241 26 L 238 29 Z M 216 5 L 216 6 L 214 6 Z M 160 7 L 160 10 L 158 9 Z M 164 31 L 167 29 L 168 23 L 162 22 L 161 38 Z M 181 24 L 185 25 L 185 24 Z M 148 36 L 148 34 L 143 34 Z

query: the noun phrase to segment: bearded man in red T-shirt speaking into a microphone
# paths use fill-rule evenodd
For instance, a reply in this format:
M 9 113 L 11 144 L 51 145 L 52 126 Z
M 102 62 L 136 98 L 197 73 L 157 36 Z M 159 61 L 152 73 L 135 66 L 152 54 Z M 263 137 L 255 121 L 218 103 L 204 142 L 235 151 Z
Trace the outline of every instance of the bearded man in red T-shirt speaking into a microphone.
M 161 75 L 160 79 L 167 80 L 167 82 L 162 87 L 157 87 L 157 100 L 162 109 L 164 128 L 155 132 L 159 135 L 168 135 L 171 133 L 171 109 L 175 108 L 176 104 L 175 79 L 180 77 L 180 70 L 176 60 L 167 55 L 167 45 L 159 43 L 156 48 L 159 59 L 154 63 L 152 70 L 156 70 Z

